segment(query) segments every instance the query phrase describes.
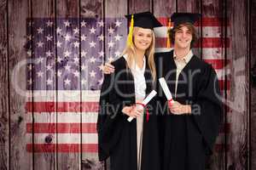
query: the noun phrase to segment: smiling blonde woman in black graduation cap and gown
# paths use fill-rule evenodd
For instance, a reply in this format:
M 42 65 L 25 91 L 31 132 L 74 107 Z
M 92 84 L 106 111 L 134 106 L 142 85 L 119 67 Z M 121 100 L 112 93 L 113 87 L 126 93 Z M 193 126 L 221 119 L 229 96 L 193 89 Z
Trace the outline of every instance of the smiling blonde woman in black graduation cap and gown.
M 138 109 L 155 81 L 154 31 L 161 26 L 150 12 L 127 15 L 130 32 L 113 74 L 105 74 L 97 122 L 99 158 L 110 156 L 111 170 L 160 169 L 155 116 Z M 154 102 L 149 102 L 153 105 Z M 133 116 L 131 122 L 127 121 Z M 150 138 L 150 139 L 149 139 Z

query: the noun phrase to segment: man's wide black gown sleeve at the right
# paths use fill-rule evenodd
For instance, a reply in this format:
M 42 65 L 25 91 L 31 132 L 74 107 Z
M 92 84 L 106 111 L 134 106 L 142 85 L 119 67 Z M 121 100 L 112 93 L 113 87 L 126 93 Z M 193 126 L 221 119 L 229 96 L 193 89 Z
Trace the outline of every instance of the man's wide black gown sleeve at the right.
M 197 95 L 191 105 L 191 111 L 207 145 L 207 152 L 212 154 L 223 113 L 218 78 L 212 65 L 202 69 L 197 85 Z

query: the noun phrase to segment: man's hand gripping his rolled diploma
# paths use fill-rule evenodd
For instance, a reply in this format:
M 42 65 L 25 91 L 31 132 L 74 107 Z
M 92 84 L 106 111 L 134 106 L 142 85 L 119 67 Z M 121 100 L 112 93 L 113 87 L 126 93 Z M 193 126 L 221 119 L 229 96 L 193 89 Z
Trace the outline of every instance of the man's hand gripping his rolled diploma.
M 191 106 L 190 105 L 182 105 L 177 101 L 174 101 L 172 104 L 168 104 L 170 111 L 174 115 L 183 115 L 183 114 L 190 114 L 191 113 Z

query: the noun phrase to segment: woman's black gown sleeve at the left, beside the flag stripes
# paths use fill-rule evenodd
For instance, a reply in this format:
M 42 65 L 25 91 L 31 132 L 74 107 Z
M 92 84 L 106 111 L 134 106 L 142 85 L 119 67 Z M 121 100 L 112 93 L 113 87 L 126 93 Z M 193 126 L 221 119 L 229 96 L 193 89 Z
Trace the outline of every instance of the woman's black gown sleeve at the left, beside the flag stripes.
M 114 79 L 115 73 L 104 75 L 102 83 L 97 120 L 100 161 L 106 160 L 115 144 L 118 143 L 122 133 L 122 122 L 128 117 L 122 114 L 123 102 L 114 90 Z

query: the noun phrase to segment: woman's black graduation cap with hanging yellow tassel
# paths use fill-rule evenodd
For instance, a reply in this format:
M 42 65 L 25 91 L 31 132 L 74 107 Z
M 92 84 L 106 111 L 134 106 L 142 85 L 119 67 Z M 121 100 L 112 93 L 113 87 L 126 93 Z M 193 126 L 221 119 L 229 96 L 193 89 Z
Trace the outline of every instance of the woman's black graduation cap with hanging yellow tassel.
M 143 13 L 137 13 L 137 14 L 128 14 L 125 15 L 125 17 L 131 22 L 130 28 L 129 28 L 129 34 L 127 38 L 128 45 L 131 45 L 132 43 L 132 33 L 133 33 L 133 27 L 138 26 L 142 28 L 148 28 L 150 30 L 153 30 L 154 27 L 160 27 L 162 26 L 160 21 L 158 21 L 154 14 L 148 12 Z

